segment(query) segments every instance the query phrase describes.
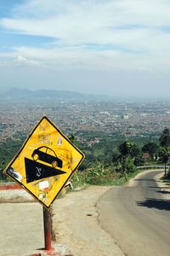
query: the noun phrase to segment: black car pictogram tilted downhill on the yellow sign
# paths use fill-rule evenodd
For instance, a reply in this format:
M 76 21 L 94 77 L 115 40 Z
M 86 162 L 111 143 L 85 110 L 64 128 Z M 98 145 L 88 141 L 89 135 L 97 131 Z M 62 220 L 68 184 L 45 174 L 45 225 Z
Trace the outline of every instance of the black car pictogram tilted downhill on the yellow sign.
M 34 152 L 31 154 L 31 157 L 35 161 L 41 160 L 43 162 L 46 162 L 52 165 L 54 168 L 57 166 L 62 168 L 63 166 L 63 161 L 57 157 L 54 150 L 46 146 L 35 149 Z

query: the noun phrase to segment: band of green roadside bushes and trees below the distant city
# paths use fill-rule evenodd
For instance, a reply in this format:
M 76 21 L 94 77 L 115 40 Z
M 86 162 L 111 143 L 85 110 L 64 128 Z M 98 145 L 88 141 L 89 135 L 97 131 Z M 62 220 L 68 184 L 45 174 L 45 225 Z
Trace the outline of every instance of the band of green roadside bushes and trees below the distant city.
M 157 141 L 147 143 L 134 143 L 132 140 L 120 142 L 119 140 L 108 147 L 104 141 L 99 147 L 89 147 L 88 143 L 79 143 L 73 134 L 68 135 L 72 143 L 76 144 L 86 154 L 79 170 L 71 177 L 74 188 L 86 184 L 95 185 L 122 185 L 140 171 L 139 166 L 164 165 L 166 180 L 170 180 L 168 169 L 170 159 L 170 131 L 165 128 Z M 0 181 L 8 182 L 3 175 L 3 169 L 8 161 L 14 157 L 25 138 L 18 142 L 7 140 L 0 144 Z

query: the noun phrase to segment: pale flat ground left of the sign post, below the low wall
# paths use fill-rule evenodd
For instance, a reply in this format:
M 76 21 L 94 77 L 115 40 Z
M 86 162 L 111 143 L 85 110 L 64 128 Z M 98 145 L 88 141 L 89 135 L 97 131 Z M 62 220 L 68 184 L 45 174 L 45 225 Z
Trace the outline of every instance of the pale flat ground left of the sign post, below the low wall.
M 26 256 L 43 247 L 42 206 L 37 202 L 0 203 L 0 220 L 1 256 Z

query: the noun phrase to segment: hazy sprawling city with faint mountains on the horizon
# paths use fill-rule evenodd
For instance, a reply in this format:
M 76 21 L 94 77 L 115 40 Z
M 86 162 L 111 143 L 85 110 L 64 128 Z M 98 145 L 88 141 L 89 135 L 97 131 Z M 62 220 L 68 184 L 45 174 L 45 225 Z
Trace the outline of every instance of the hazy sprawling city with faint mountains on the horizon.
M 13 90 L 0 96 L 0 143 L 26 138 L 44 114 L 61 131 L 72 133 L 80 142 L 90 145 L 99 143 L 99 132 L 111 137 L 150 137 L 152 140 L 170 124 L 169 101 L 114 100 L 105 96 L 103 99 L 102 96 L 88 98 L 77 93 L 48 90 L 46 94 L 43 92 L 38 96 L 37 93 L 37 97 L 32 98 L 29 94 L 26 97 L 25 93 Z M 48 96 L 51 93 L 53 96 Z M 94 139 L 87 141 L 84 131 L 93 132 Z

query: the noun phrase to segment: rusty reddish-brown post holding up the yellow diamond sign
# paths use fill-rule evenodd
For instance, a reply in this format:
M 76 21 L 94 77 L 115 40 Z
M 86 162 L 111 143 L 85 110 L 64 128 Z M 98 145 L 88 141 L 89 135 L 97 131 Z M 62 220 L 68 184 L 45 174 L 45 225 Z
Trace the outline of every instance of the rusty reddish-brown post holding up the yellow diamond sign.
M 43 207 L 43 228 L 45 250 L 52 250 L 51 246 L 51 212 L 50 208 Z

